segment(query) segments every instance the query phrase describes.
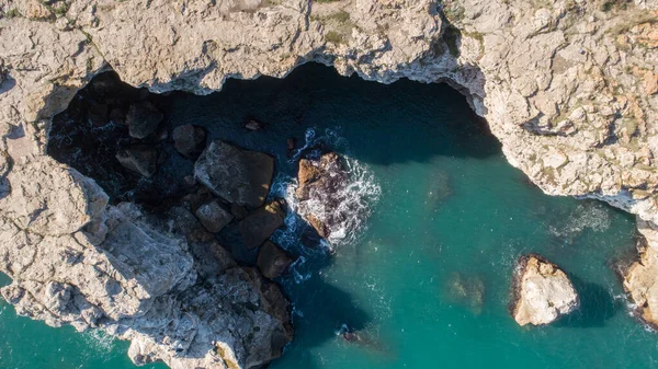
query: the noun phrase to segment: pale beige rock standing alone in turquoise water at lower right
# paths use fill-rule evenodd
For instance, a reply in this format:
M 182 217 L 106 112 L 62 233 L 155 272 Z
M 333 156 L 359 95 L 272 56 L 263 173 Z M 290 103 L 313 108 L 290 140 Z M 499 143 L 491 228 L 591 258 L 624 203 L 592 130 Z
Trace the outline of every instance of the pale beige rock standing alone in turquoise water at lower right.
M 579 305 L 578 293 L 567 275 L 534 254 L 519 258 L 513 296 L 511 311 L 520 325 L 548 324 Z

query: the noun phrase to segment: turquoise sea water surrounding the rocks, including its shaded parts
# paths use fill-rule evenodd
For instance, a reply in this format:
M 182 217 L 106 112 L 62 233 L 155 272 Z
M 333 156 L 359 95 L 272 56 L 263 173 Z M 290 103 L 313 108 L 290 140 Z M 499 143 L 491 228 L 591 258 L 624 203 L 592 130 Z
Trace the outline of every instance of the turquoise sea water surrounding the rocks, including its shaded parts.
M 371 215 L 333 255 L 300 246 L 300 231 L 275 235 L 303 261 L 282 280 L 296 336 L 272 368 L 658 368 L 657 336 L 629 316 L 612 268 L 633 249 L 633 218 L 543 195 L 450 88 L 382 85 L 309 65 L 284 80 L 174 94 L 168 114 L 173 125 L 205 125 L 212 138 L 277 154 L 281 193 L 296 170 L 286 138 L 303 145 L 310 134 L 362 181 L 354 199 Z M 247 116 L 266 129 L 245 131 Z M 184 172 L 192 163 L 175 165 Z M 515 324 L 510 279 L 517 257 L 530 252 L 572 277 L 579 312 L 546 327 Z M 343 341 L 343 324 L 362 341 Z M 2 368 L 133 368 L 126 349 L 0 305 Z

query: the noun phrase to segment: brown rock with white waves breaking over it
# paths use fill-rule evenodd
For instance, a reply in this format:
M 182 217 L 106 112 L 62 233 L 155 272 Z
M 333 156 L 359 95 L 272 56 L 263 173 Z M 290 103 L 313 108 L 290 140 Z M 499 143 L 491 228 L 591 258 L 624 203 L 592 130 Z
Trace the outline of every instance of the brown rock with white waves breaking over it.
M 349 175 L 334 152 L 319 159 L 299 160 L 297 173 L 299 187 L 295 192 L 299 214 L 322 238 L 330 237 L 337 224 L 348 216 L 350 209 L 341 208 L 345 196 Z

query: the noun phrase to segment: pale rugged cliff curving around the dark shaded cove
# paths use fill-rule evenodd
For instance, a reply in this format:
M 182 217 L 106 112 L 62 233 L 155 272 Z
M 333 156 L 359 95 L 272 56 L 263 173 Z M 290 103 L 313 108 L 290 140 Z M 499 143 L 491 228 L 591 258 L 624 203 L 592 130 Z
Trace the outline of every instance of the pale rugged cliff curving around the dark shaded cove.
M 133 339 L 136 362 L 258 367 L 292 331 L 253 269 L 219 261 L 200 287 L 185 240 L 47 157 L 53 116 L 110 68 L 159 93 L 308 61 L 447 82 L 544 192 L 658 228 L 658 1 L 0 0 L 0 269 L 13 279 L 2 295 L 50 325 Z M 164 252 L 143 260 L 126 240 Z M 245 309 L 203 313 L 226 299 Z

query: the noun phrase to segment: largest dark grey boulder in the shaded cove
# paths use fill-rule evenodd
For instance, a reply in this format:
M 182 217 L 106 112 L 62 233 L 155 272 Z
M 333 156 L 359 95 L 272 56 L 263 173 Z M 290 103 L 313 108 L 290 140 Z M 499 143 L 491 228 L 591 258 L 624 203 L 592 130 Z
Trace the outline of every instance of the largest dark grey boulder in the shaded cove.
M 211 142 L 194 164 L 194 175 L 228 203 L 258 208 L 265 201 L 274 158 L 222 140 Z

